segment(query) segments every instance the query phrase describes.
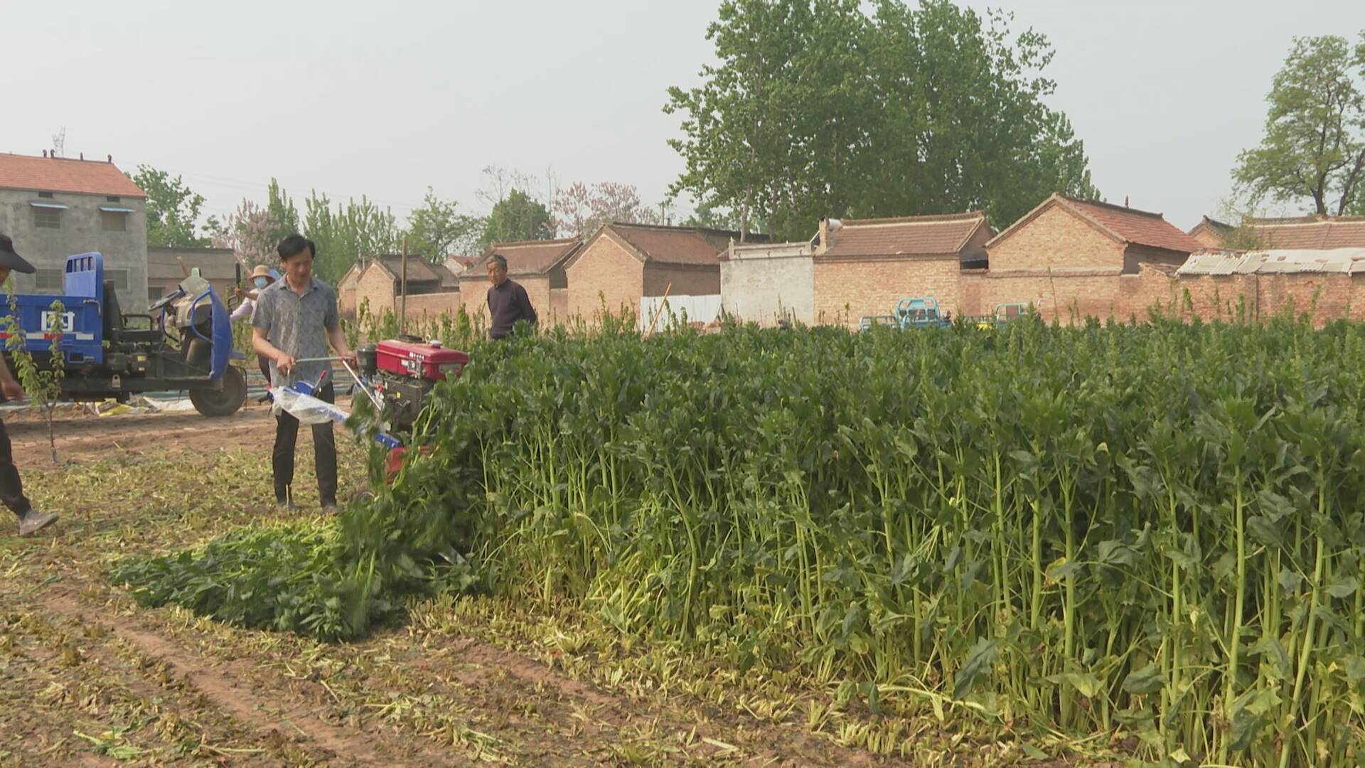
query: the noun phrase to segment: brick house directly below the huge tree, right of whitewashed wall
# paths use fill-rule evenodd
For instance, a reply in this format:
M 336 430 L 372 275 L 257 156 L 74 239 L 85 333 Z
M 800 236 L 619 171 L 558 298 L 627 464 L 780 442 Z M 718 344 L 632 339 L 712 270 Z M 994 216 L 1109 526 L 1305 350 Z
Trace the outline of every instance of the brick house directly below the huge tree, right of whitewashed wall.
M 957 310 L 964 268 L 986 265 L 994 230 L 986 213 L 820 221 L 811 256 L 815 321 L 856 328 L 890 314 L 906 297 L 934 297 Z

